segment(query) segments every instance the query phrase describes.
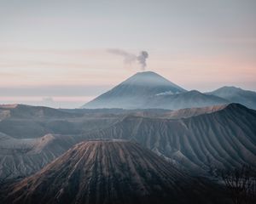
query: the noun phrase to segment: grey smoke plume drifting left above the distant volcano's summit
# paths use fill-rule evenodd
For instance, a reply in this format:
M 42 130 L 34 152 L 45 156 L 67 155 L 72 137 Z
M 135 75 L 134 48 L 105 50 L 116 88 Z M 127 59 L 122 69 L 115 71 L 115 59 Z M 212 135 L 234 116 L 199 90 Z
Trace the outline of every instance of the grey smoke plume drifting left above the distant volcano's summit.
M 142 70 L 144 71 L 147 66 L 148 52 L 142 51 L 140 54 L 131 54 L 122 49 L 108 49 L 109 53 L 120 55 L 124 58 L 124 63 L 131 65 L 132 63 L 137 62 L 141 65 Z

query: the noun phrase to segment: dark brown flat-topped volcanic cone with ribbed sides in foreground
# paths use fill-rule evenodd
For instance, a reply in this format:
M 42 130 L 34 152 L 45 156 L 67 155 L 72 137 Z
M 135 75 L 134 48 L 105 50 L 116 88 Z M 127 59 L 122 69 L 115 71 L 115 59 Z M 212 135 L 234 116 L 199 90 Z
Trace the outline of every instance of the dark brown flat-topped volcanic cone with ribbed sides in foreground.
M 40 172 L 9 186 L 3 201 L 212 203 L 209 195 L 214 196 L 215 192 L 209 190 L 205 184 L 138 144 L 94 140 L 76 144 Z

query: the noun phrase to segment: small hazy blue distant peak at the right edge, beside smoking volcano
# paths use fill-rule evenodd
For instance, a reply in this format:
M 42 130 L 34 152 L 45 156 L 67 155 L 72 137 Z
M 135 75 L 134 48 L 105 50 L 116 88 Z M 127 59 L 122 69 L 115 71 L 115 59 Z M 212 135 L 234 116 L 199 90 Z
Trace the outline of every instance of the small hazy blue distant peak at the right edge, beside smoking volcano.
M 231 103 L 246 105 L 248 108 L 256 110 L 256 92 L 253 91 L 247 91 L 236 87 L 223 87 L 207 94 L 221 97 L 229 100 Z

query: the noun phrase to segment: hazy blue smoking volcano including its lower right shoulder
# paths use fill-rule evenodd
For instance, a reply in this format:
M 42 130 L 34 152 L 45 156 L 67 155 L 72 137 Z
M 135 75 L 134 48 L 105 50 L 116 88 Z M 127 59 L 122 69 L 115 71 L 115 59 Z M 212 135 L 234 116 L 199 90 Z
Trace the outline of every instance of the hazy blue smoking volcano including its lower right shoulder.
M 225 99 L 201 94 L 198 91 L 188 92 L 153 71 L 144 71 L 135 74 L 107 93 L 93 99 L 83 108 L 177 110 L 225 103 L 228 103 Z

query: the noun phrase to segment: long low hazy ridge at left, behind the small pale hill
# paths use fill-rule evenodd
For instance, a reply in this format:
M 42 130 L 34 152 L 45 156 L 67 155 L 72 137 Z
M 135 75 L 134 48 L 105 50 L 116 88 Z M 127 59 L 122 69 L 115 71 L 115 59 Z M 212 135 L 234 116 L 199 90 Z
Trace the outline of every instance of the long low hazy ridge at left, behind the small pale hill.
M 80 134 L 108 126 L 115 120 L 116 116 L 104 111 L 96 115 L 43 106 L 0 105 L 0 133 L 16 139 L 40 138 L 48 133 Z

